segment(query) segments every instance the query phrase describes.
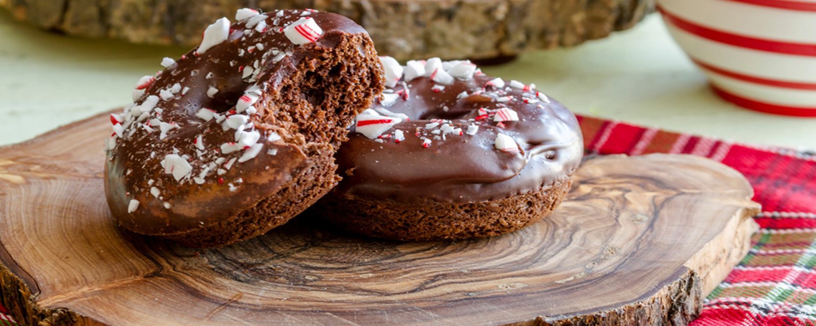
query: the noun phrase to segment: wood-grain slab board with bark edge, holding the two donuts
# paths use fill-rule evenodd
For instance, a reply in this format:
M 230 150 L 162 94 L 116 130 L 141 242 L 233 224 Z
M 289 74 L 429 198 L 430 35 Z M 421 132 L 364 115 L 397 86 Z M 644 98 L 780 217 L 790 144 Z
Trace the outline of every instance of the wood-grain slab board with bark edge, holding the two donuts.
M 694 156 L 600 156 L 550 217 L 397 243 L 308 218 L 188 249 L 118 231 L 108 116 L 0 148 L 2 304 L 23 324 L 687 324 L 747 253 L 752 188 Z

